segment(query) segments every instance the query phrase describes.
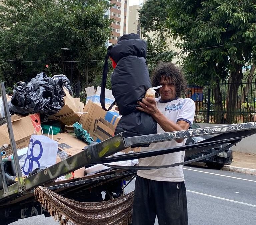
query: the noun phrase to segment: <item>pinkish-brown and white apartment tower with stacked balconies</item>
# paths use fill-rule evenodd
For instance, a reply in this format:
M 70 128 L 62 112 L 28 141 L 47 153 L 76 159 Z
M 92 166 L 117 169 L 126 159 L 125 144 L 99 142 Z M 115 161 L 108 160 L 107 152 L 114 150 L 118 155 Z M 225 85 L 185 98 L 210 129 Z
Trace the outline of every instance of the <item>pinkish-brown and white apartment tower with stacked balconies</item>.
M 112 38 L 109 40 L 109 45 L 116 44 L 119 37 L 128 33 L 128 21 L 129 21 L 129 0 L 111 0 L 111 4 L 114 4 L 110 8 L 110 18 L 114 18 L 112 27 Z

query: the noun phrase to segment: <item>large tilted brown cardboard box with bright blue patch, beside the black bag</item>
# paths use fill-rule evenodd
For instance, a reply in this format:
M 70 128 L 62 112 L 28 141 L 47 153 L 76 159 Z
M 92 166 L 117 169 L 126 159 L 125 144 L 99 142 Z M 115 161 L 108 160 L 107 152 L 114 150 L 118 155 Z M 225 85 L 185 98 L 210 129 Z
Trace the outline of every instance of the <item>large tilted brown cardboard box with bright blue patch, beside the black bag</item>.
M 94 141 L 101 142 L 114 136 L 116 126 L 122 117 L 118 111 L 113 109 L 105 111 L 99 103 L 89 100 L 85 105 L 84 112 L 87 112 L 87 114 L 81 116 L 79 123 L 93 137 Z M 140 148 L 127 148 L 124 150 L 124 152 L 129 151 L 138 152 Z

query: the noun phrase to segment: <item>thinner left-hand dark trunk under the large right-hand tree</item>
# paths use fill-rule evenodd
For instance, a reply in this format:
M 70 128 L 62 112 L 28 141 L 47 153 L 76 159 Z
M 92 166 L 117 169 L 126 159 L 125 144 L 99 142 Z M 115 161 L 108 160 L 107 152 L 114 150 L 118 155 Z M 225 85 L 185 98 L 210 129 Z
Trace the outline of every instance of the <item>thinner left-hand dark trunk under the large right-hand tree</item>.
M 213 97 L 214 97 L 214 102 L 215 102 L 215 123 L 224 123 L 224 110 L 223 110 L 223 104 L 222 104 L 222 95 L 220 92 L 220 82 L 219 78 L 217 78 L 217 84 L 216 86 L 212 89 L 213 90 Z

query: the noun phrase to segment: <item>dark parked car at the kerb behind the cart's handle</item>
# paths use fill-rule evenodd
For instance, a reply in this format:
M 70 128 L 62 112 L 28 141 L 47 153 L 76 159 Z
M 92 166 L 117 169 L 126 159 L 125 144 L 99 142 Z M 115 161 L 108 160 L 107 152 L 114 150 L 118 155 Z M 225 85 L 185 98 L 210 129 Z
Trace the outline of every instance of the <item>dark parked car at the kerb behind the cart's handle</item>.
M 201 128 L 201 127 L 197 123 L 193 123 L 193 125 L 190 129 L 196 129 L 196 128 Z M 194 144 L 194 143 L 203 141 L 205 139 L 209 139 L 211 137 L 212 137 L 212 135 L 205 135 L 205 136 L 188 138 L 187 141 L 186 141 L 186 145 Z M 205 154 L 212 153 L 214 151 L 219 150 L 220 148 L 224 148 L 226 145 L 227 144 L 222 144 L 218 147 L 211 148 L 211 149 L 207 150 L 206 153 L 198 153 L 198 154 L 188 156 L 188 157 L 186 157 L 186 153 L 185 153 L 185 161 L 190 160 L 190 159 L 195 159 L 195 158 L 203 156 Z M 232 153 L 232 149 L 229 148 L 229 149 L 224 150 L 223 152 L 221 152 L 221 153 L 219 153 L 215 156 L 212 156 L 208 159 L 203 159 L 199 162 L 206 163 L 206 165 L 209 169 L 218 169 L 218 170 L 220 170 L 224 165 L 230 165 L 232 160 L 233 160 L 233 153 Z

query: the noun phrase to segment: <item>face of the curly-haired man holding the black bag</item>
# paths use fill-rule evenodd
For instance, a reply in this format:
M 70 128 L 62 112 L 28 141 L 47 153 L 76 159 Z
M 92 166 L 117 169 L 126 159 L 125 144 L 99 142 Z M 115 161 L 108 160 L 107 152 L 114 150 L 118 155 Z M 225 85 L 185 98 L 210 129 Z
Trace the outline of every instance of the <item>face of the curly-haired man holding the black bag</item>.
M 162 100 L 172 100 L 176 98 L 176 88 L 171 79 L 168 77 L 165 79 L 165 77 L 162 76 L 159 85 L 162 85 L 162 87 L 159 88 Z

